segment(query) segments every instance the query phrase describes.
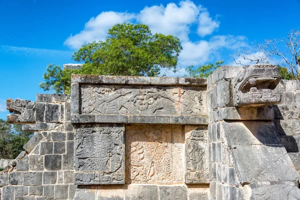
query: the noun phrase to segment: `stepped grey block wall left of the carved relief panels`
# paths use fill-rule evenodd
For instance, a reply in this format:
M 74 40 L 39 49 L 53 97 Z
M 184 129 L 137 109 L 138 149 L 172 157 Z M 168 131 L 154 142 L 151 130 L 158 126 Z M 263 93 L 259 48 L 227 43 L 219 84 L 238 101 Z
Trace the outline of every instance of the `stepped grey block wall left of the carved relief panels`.
M 23 129 L 35 131 L 34 136 L 1 172 L 2 199 L 73 199 L 77 185 L 69 95 L 37 94 L 33 109 L 35 123 L 24 124 Z M 7 118 L 24 120 L 13 114 Z

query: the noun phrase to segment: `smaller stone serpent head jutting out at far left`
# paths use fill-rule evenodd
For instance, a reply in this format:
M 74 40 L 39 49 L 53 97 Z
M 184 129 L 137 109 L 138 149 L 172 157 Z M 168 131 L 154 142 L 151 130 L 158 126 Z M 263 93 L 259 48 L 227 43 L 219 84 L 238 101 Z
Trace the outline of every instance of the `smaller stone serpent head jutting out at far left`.
M 31 100 L 7 98 L 6 109 L 10 113 L 7 115 L 9 123 L 33 123 L 35 122 L 35 102 Z

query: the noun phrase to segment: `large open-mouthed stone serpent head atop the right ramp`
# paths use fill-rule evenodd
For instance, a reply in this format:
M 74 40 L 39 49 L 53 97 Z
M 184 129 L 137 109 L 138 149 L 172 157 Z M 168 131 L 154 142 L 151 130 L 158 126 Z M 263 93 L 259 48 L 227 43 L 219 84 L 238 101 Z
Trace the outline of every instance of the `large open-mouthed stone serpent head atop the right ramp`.
M 260 106 L 279 103 L 281 93 L 273 90 L 279 80 L 279 69 L 272 64 L 243 67 L 233 79 L 234 105 Z

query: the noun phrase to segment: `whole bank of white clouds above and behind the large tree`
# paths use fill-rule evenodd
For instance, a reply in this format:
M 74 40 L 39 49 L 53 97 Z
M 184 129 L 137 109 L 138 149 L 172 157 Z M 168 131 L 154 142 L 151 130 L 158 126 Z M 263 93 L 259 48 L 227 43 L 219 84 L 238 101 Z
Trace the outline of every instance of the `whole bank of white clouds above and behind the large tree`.
M 103 11 L 92 17 L 82 31 L 69 36 L 64 44 L 79 48 L 93 40 L 104 40 L 108 29 L 122 22 L 139 22 L 148 25 L 152 33 L 177 36 L 183 47 L 178 57 L 178 66 L 203 64 L 213 61 L 223 49 L 236 49 L 247 45 L 244 36 L 214 35 L 208 40 L 194 41 L 190 34 L 210 35 L 219 28 L 217 16 L 211 17 L 206 8 L 190 0 L 181 0 L 178 4 L 170 2 L 165 6 L 146 6 L 137 13 Z M 183 74 L 182 70 L 180 74 Z

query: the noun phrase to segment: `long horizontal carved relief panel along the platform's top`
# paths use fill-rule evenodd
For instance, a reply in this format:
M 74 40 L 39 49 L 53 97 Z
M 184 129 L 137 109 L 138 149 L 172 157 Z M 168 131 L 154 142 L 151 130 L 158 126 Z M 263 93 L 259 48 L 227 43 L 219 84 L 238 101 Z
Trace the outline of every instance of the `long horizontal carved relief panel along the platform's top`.
M 81 85 L 81 113 L 206 115 L 205 88 L 196 86 Z

